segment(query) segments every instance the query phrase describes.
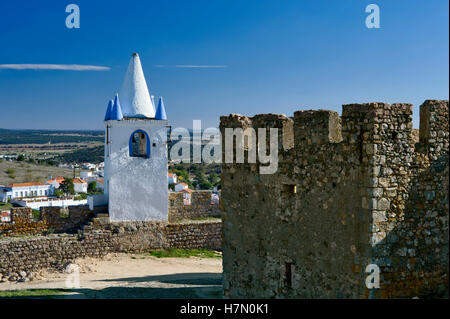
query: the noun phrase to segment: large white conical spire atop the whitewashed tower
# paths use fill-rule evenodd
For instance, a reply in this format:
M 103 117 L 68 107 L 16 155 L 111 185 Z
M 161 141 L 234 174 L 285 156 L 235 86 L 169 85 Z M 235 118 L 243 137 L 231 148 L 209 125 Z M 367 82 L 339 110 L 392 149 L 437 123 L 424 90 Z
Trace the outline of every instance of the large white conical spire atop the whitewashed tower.
M 124 117 L 155 117 L 155 107 L 137 53 L 131 56 L 119 96 Z

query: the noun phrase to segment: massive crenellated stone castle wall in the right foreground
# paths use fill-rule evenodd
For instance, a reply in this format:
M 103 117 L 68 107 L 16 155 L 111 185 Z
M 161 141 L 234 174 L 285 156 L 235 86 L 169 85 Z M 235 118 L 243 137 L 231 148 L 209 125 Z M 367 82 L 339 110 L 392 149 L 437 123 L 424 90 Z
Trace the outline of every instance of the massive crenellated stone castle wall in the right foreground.
M 278 170 L 222 164 L 226 297 L 392 298 L 448 290 L 448 101 L 221 117 L 278 128 Z M 222 143 L 225 153 L 225 141 Z M 245 151 L 248 157 L 248 149 Z M 225 155 L 223 155 L 225 156 Z M 381 271 L 365 286 L 366 266 Z

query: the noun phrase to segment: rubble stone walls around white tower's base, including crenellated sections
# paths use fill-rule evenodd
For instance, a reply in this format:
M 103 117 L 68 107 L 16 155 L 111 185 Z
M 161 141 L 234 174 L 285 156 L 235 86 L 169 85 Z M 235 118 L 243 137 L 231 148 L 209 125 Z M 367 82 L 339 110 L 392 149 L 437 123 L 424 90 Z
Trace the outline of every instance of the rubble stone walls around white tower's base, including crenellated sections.
M 31 208 L 13 208 L 11 222 L 0 223 L 0 279 L 111 252 L 221 250 L 221 221 L 186 220 L 218 217 L 218 205 L 211 204 L 211 192 L 192 194 L 191 205 L 183 204 L 182 193 L 171 195 L 177 205 L 169 208 L 170 221 L 110 222 L 107 217 L 95 218 L 87 206 L 43 207 L 35 220 Z

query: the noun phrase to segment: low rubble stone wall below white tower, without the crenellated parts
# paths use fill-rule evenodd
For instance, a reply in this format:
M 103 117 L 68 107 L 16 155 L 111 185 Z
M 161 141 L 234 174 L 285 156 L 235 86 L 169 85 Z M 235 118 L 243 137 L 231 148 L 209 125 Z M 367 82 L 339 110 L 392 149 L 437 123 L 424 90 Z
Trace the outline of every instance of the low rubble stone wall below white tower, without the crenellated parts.
M 82 235 L 53 234 L 31 238 L 0 239 L 0 277 L 17 276 L 73 261 L 102 257 L 111 252 L 145 252 L 152 249 L 221 250 L 221 222 L 109 223 L 101 232 Z

